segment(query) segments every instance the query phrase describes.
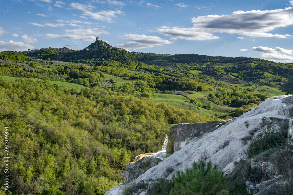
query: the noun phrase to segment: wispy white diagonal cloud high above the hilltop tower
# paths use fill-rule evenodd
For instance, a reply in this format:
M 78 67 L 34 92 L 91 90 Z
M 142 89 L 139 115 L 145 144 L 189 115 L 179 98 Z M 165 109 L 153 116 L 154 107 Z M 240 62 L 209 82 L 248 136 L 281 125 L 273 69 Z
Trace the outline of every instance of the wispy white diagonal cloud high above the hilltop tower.
M 95 8 L 94 6 L 91 5 L 84 5 L 84 4 L 80 4 L 80 3 L 70 3 L 71 8 L 74 9 L 78 9 L 83 11 L 82 16 L 84 16 L 83 18 L 85 18 L 85 16 L 89 16 L 95 20 L 102 20 L 102 21 L 106 21 L 108 23 L 112 23 L 113 18 L 117 18 L 117 14 L 123 15 L 124 12 L 121 10 L 110 10 L 110 11 L 99 11 L 99 12 L 92 12 L 93 8 Z M 81 17 L 82 17 L 81 16 Z

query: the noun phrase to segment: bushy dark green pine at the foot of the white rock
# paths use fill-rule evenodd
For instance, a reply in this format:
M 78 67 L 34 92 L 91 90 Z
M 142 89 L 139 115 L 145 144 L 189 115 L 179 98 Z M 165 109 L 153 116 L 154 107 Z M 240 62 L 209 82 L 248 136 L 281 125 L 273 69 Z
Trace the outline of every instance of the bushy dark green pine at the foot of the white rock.
M 219 171 L 217 164 L 213 165 L 211 161 L 193 162 L 192 168 L 185 168 L 184 172 L 178 170 L 172 179 L 175 187 L 171 189 L 171 195 L 228 194 L 224 172 Z

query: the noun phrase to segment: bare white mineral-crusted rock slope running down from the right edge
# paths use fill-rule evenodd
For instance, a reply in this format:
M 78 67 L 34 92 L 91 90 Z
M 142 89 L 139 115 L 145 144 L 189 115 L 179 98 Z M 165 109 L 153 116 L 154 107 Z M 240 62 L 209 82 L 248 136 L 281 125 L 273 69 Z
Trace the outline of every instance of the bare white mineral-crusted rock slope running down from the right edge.
M 247 137 L 253 139 L 265 128 L 274 126 L 275 130 L 280 129 L 284 122 L 283 120 L 292 118 L 292 111 L 293 96 L 276 96 L 266 99 L 251 111 L 227 122 L 214 131 L 202 131 L 199 137 L 195 135 L 195 132 L 199 132 L 200 128 L 195 127 L 197 130 L 193 130 L 192 124 L 174 125 L 173 133 L 170 133 L 170 136 L 168 135 L 168 144 L 169 140 L 173 140 L 173 143 L 167 144 L 168 150 L 173 150 L 174 153 L 140 175 L 135 181 L 128 183 L 128 185 L 142 180 L 156 180 L 161 177 L 171 179 L 172 173 L 176 170 L 183 170 L 186 166 L 190 167 L 194 161 L 200 158 L 209 158 L 213 163 L 218 164 L 219 169 L 230 173 L 234 168 L 234 161 L 245 159 L 245 151 L 248 145 L 243 140 L 247 139 Z M 177 133 L 180 131 L 187 133 Z M 195 135 L 195 137 L 190 137 L 189 135 L 191 134 Z M 181 135 L 184 137 L 180 138 Z M 106 191 L 105 194 L 121 194 L 123 187 L 123 184 L 119 185 Z

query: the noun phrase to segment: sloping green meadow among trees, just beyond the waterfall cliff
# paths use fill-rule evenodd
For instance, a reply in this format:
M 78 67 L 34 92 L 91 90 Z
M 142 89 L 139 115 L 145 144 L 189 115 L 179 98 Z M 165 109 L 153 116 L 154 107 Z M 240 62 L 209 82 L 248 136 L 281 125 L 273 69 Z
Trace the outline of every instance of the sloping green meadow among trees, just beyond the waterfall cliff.
M 203 104 L 208 103 L 209 100 L 207 99 L 207 95 L 210 93 L 209 91 L 200 93 L 200 92 L 194 92 L 194 91 L 185 91 L 188 93 L 188 97 L 195 98 L 199 101 L 201 101 Z M 219 106 L 217 104 L 213 104 L 212 110 L 208 110 L 205 108 L 198 107 L 182 95 L 175 95 L 175 94 L 159 94 L 155 93 L 152 96 L 152 99 L 154 101 L 158 101 L 159 103 L 166 103 L 167 105 L 172 105 L 175 108 L 182 108 L 183 110 L 190 110 L 194 111 L 196 113 L 199 113 L 201 115 L 206 116 L 217 116 L 219 118 L 225 118 L 227 115 L 233 116 L 235 110 L 237 108 L 231 108 L 231 107 L 225 107 L 225 106 Z

